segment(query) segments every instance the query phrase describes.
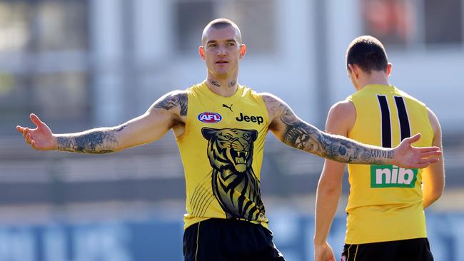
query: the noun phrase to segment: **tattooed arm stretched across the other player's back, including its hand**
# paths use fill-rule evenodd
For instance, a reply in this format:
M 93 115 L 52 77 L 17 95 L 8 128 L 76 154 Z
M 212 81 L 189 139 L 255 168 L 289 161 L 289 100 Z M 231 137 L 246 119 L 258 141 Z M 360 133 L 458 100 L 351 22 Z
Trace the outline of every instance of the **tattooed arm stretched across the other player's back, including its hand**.
M 394 149 L 380 148 L 358 143 L 355 140 L 331 135 L 298 118 L 281 99 L 269 93 L 263 94 L 268 109 L 270 130 L 286 145 L 323 158 L 341 163 L 398 165 L 403 168 L 425 168 L 436 162 L 439 148 L 415 148 L 410 144 L 417 141 L 415 135 Z

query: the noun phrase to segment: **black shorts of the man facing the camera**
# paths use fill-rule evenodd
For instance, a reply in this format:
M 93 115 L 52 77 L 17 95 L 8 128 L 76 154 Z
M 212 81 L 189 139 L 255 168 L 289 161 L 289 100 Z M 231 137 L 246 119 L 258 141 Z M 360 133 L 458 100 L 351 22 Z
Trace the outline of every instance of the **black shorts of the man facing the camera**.
M 187 227 L 183 257 L 185 261 L 285 261 L 266 227 L 218 218 Z

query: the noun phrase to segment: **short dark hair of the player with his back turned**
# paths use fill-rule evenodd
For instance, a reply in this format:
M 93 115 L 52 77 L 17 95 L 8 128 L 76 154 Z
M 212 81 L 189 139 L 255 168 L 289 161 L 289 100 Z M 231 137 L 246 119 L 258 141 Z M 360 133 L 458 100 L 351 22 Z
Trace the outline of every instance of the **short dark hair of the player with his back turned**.
M 348 68 L 348 64 L 355 64 L 366 73 L 370 73 L 370 71 L 386 72 L 387 53 L 383 44 L 375 37 L 359 36 L 351 42 L 346 51 L 346 68 Z

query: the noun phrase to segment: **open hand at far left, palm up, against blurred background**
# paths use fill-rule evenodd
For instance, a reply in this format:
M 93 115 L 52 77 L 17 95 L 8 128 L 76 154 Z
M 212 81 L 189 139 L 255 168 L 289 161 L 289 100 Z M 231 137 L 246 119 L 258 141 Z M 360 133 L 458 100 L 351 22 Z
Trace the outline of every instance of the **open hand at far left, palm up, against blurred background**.
M 31 113 L 29 116 L 31 121 L 36 125 L 37 128 L 27 128 L 16 126 L 16 130 L 19 131 L 24 137 L 24 140 L 27 144 L 31 145 L 32 148 L 36 150 L 53 150 L 56 149 L 56 138 L 54 137 L 53 133 L 49 126 L 46 126 L 45 123 L 40 121 L 39 117 L 37 117 L 34 113 Z

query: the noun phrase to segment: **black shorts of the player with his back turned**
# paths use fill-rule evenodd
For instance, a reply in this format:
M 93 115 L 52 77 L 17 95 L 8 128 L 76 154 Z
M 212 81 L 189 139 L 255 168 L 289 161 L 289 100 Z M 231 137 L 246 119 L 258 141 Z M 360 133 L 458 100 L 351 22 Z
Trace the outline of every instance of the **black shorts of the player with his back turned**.
M 343 247 L 342 261 L 433 261 L 427 238 L 375 242 Z

